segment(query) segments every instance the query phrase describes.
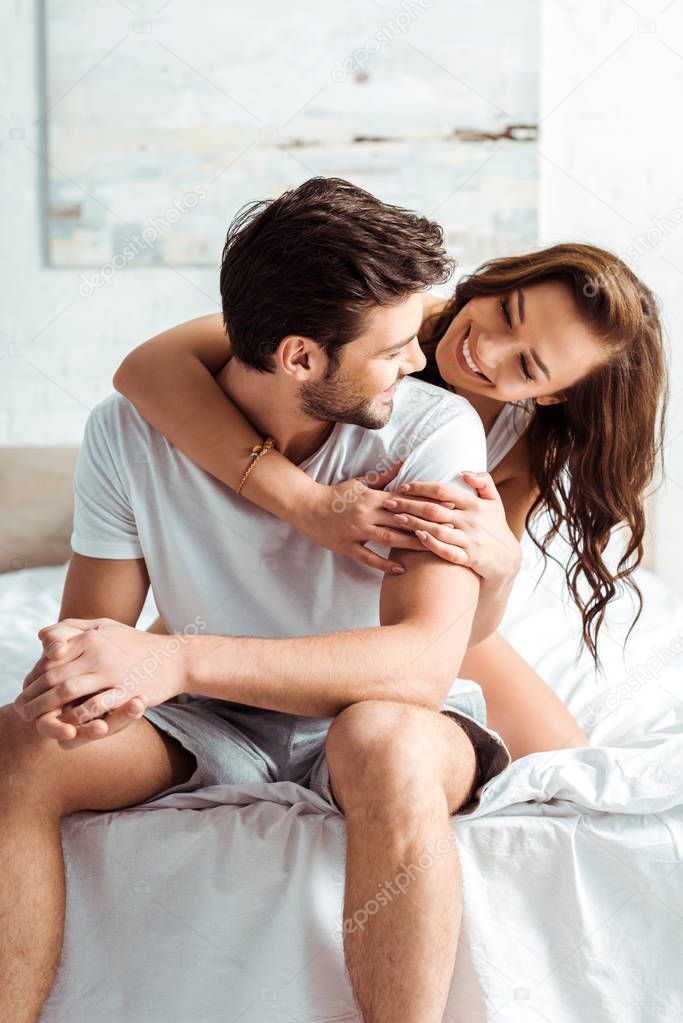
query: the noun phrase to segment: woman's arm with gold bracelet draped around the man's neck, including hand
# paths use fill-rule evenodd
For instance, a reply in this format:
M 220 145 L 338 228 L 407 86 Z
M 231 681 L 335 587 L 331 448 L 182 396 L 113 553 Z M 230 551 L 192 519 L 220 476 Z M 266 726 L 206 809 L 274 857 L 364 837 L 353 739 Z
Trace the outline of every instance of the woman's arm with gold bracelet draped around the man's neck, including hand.
M 214 379 L 229 358 L 222 316 L 200 316 L 136 348 L 117 370 L 113 386 L 179 450 L 234 490 L 252 447 L 263 437 Z M 371 484 L 358 479 L 326 487 L 271 451 L 259 460 L 241 493 L 321 546 L 382 572 L 401 572 L 397 562 L 365 546 L 372 540 L 389 547 L 421 547 L 380 507 L 380 490 L 396 472 L 398 466 Z M 357 499 L 339 501 L 350 485 Z

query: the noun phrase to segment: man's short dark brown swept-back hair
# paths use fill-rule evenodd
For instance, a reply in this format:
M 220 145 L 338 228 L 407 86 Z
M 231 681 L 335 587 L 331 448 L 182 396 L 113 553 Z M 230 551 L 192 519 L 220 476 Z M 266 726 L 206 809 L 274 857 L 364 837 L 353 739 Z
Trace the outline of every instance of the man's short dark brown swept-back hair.
M 221 265 L 232 351 L 273 371 L 288 335 L 311 338 L 334 366 L 374 306 L 448 280 L 441 227 L 342 178 L 311 178 L 276 199 L 243 207 Z

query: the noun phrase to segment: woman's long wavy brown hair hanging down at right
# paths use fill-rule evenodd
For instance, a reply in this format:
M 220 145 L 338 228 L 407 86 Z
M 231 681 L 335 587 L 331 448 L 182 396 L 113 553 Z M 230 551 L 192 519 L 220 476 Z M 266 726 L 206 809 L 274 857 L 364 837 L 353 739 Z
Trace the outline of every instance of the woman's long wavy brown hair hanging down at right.
M 645 491 L 662 458 L 668 398 L 652 292 L 619 257 L 594 246 L 570 242 L 490 260 L 462 278 L 444 310 L 424 323 L 420 343 L 427 365 L 418 375 L 443 386 L 434 353 L 470 299 L 502 298 L 516 287 L 548 280 L 571 288 L 578 315 L 602 346 L 604 361 L 563 391 L 566 401 L 536 406 L 527 433 L 538 493 L 526 528 L 544 555 L 560 530 L 568 541 L 566 583 L 581 612 L 584 642 L 597 664 L 597 636 L 614 594 L 628 586 L 636 596 L 631 629 L 642 611 L 633 572 L 643 558 Z M 542 509 L 550 525 L 539 538 L 530 525 Z M 603 555 L 616 527 L 625 528 L 626 546 L 610 569 Z

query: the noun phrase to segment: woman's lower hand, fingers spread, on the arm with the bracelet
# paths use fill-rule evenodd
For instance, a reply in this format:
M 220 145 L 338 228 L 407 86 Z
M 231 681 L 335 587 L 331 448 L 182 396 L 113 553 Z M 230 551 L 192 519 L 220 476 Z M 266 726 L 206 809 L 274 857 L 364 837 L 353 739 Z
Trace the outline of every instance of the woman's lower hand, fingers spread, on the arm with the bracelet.
M 400 468 L 401 463 L 383 473 L 358 476 L 333 486 L 313 484 L 311 499 L 302 506 L 294 525 L 321 547 L 346 554 L 380 572 L 404 572 L 402 565 L 364 546 L 372 541 L 388 547 L 424 550 L 412 530 L 403 528 L 382 506 L 388 496 L 382 488 L 396 477 Z

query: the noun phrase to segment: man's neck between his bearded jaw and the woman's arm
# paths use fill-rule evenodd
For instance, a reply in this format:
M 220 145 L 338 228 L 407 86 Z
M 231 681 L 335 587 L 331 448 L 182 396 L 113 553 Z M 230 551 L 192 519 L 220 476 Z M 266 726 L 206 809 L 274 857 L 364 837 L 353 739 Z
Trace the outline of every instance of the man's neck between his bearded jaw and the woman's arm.
M 263 437 L 272 437 L 278 451 L 299 464 L 327 440 L 333 422 L 311 419 L 297 406 L 297 397 L 275 373 L 260 373 L 230 359 L 218 383 Z

